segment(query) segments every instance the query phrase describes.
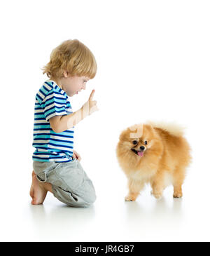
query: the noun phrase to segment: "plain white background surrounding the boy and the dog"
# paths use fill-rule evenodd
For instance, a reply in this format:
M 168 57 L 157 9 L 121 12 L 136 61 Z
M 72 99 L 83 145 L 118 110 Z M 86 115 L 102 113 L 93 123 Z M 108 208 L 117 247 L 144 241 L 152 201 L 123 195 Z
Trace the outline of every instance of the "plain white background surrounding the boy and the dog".
M 1 1 L 1 241 L 209 241 L 209 1 Z M 97 201 L 69 208 L 50 192 L 31 206 L 34 100 L 41 68 L 66 39 L 94 54 L 97 75 L 69 97 L 73 111 L 95 88 L 99 111 L 75 129 L 74 149 Z M 135 123 L 186 126 L 193 163 L 183 198 L 148 186 L 125 202 L 120 132 Z M 179 149 L 177 149 L 179 150 Z

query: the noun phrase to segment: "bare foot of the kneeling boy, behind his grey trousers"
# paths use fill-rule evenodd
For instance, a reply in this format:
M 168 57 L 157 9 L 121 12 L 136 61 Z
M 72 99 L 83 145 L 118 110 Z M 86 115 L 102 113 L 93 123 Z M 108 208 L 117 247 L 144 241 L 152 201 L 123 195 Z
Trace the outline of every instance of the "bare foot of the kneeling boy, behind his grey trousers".
M 32 184 L 30 189 L 30 196 L 32 198 L 31 204 L 37 205 L 43 203 L 47 195 L 47 190 L 42 186 L 41 182 L 38 182 L 34 170 L 32 172 Z

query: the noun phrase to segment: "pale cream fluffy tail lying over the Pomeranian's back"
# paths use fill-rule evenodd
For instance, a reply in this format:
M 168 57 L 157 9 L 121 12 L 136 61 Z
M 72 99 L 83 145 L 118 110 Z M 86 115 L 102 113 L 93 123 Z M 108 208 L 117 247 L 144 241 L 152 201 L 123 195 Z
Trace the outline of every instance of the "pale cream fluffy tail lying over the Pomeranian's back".
M 166 130 L 168 133 L 174 135 L 174 136 L 183 136 L 184 130 L 186 129 L 185 126 L 181 126 L 175 122 L 173 123 L 167 123 L 165 121 L 148 121 L 148 124 L 150 124 L 153 127 L 160 128 L 162 130 Z

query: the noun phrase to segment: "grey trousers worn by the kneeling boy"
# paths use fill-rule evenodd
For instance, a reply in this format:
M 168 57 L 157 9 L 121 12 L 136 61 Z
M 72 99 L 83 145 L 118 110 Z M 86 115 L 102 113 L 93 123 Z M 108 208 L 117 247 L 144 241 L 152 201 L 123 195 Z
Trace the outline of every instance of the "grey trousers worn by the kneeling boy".
M 52 184 L 53 195 L 73 207 L 88 207 L 96 200 L 92 181 L 78 159 L 67 163 L 33 161 L 40 182 Z

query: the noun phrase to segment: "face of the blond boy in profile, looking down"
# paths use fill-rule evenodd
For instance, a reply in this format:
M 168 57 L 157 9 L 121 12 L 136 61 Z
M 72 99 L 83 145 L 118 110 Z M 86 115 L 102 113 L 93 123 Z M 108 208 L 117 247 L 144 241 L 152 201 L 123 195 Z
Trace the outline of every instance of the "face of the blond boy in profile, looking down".
M 64 72 L 64 77 L 61 79 L 62 90 L 66 92 L 69 97 L 78 94 L 80 90 L 85 90 L 87 81 L 90 80 L 87 76 L 68 76 Z

